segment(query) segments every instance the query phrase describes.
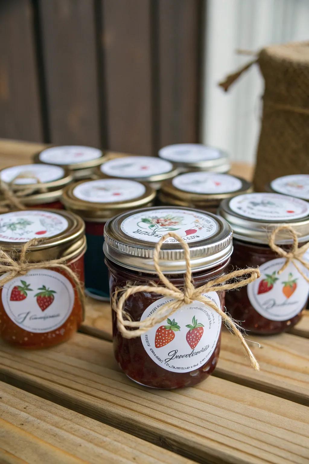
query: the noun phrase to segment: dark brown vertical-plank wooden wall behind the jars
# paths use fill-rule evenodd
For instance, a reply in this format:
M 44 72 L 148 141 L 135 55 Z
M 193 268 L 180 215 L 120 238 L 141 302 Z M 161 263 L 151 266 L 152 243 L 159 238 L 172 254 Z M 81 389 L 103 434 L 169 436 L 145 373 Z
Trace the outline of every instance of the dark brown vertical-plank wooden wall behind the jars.
M 202 0 L 0 0 L 0 137 L 197 142 Z

